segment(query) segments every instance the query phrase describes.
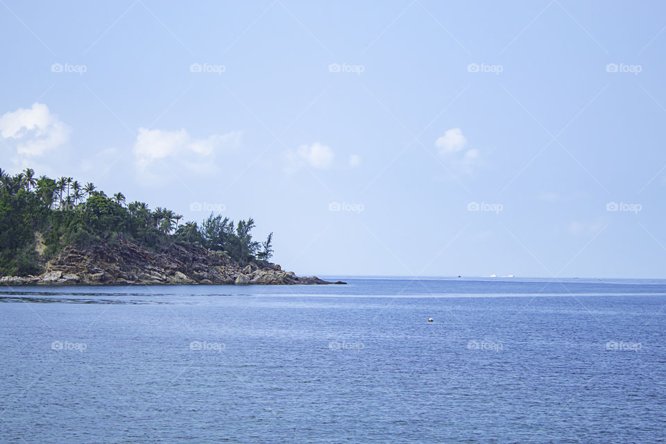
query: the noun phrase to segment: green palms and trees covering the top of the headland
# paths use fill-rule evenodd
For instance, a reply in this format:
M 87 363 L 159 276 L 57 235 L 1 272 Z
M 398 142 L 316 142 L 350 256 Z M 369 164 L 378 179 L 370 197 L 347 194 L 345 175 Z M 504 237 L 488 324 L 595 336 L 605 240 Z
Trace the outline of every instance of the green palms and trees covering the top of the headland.
M 68 245 L 83 248 L 119 239 L 153 251 L 173 242 L 203 246 L 241 266 L 268 262 L 273 255 L 273 233 L 264 242 L 253 240 L 252 218 L 234 223 L 210 214 L 200 224 L 181 219 L 167 208 L 126 203 L 122 193 L 109 197 L 91 182 L 35 178 L 30 168 L 15 175 L 0 169 L 0 276 L 40 273 L 42 264 Z M 43 244 L 42 253 L 37 253 L 36 242 Z

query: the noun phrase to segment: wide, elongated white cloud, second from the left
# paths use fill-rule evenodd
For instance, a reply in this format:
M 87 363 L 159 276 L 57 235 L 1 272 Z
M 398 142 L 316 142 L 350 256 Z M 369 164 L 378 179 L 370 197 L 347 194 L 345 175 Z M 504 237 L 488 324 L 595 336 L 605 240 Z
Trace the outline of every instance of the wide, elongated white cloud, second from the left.
M 240 145 L 240 141 L 239 131 L 196 139 L 185 129 L 168 131 L 139 128 L 133 151 L 137 166 L 146 169 L 154 160 L 167 157 L 180 157 L 188 162 L 196 159 L 205 160 L 218 151 L 236 148 Z

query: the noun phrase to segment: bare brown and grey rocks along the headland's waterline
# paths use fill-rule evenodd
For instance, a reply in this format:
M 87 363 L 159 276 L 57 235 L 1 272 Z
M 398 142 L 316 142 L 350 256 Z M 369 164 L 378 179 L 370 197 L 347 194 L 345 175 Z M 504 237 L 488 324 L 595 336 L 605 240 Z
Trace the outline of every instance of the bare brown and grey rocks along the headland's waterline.
M 160 253 L 119 239 L 88 248 L 67 246 L 35 276 L 3 276 L 6 285 L 166 285 L 344 284 L 316 276 L 299 277 L 277 264 L 239 266 L 229 257 L 200 246 L 171 244 Z

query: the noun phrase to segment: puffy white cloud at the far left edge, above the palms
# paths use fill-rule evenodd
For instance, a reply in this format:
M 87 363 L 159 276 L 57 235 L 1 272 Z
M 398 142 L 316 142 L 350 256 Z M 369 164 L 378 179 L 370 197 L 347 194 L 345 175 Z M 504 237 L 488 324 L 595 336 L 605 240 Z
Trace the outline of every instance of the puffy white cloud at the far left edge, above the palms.
M 0 117 L 0 137 L 15 139 L 19 155 L 40 156 L 69 142 L 71 130 L 44 103 Z

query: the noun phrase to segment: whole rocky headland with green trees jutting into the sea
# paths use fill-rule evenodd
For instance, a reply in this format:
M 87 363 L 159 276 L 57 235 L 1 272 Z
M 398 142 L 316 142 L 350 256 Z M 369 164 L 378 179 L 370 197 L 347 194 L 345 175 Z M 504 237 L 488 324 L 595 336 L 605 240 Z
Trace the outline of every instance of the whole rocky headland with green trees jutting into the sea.
M 202 223 L 108 197 L 73 178 L 0 169 L 0 284 L 344 284 L 269 262 L 273 233 L 210 214 Z

